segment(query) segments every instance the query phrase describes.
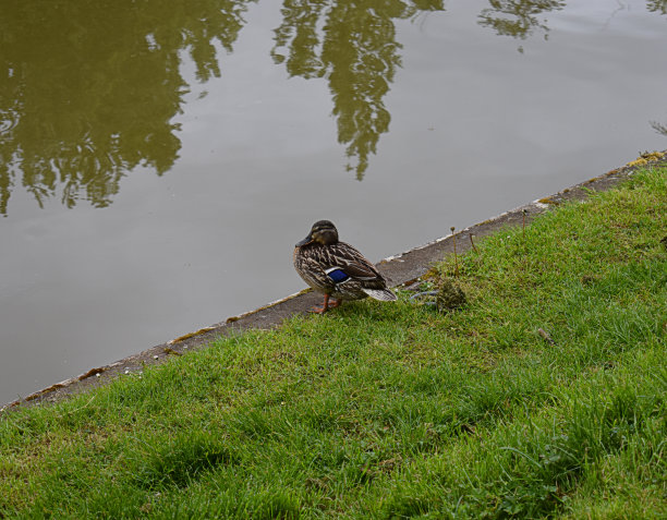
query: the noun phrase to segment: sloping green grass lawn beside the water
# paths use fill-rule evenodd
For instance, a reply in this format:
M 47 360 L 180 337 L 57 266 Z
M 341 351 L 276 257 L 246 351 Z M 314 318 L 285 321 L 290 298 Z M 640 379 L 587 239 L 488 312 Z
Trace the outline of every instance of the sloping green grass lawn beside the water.
M 460 311 L 347 304 L 7 413 L 0 518 L 665 518 L 666 234 L 647 169 L 459 258 Z

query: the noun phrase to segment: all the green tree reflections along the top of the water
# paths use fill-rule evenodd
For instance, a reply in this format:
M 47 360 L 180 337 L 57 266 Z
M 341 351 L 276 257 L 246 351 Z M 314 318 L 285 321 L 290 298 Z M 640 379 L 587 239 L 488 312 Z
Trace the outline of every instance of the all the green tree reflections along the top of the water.
M 190 52 L 199 82 L 219 76 L 215 45 L 233 50 L 256 1 L 5 2 L 0 215 L 17 183 L 39 205 L 61 191 L 68 207 L 80 198 L 104 207 L 136 166 L 169 170 L 181 147 L 172 119 L 189 89 L 179 53 Z M 548 33 L 542 15 L 565 5 L 488 0 L 478 23 L 525 39 L 535 29 Z M 389 130 L 384 99 L 402 48 L 396 23 L 444 9 L 444 0 L 283 0 L 271 57 L 292 76 L 327 78 L 338 141 L 360 180 Z M 667 1 L 648 0 L 647 10 L 667 14 Z

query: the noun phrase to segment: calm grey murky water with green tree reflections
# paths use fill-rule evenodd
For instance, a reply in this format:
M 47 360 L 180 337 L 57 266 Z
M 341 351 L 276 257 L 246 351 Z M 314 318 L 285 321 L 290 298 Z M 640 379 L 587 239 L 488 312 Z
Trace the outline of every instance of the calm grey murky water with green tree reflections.
M 0 12 L 0 402 L 667 147 L 664 0 Z

